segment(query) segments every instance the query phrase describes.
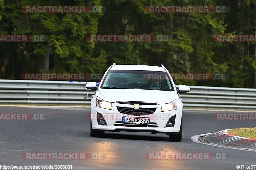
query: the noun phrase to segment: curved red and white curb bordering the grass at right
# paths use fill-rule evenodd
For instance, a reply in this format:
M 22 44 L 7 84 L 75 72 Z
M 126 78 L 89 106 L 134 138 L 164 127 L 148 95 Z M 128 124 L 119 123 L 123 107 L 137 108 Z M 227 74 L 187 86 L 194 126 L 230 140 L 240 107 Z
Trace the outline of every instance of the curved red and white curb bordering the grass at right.
M 195 135 L 192 136 L 191 139 L 196 143 L 256 152 L 256 140 L 231 135 L 228 133 L 229 130 L 231 129 L 225 129 L 215 133 Z M 199 137 L 203 137 L 203 140 L 199 141 Z

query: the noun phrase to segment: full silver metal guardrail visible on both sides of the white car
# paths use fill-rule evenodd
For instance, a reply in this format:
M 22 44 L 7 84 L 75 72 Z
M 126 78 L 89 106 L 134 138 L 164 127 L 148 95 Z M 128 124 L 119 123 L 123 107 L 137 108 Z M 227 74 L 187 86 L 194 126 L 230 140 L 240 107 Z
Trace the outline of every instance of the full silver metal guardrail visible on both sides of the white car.
M 0 103 L 90 104 L 93 91 L 86 83 L 0 79 Z M 189 93 L 180 94 L 184 108 L 256 110 L 256 89 L 189 87 Z

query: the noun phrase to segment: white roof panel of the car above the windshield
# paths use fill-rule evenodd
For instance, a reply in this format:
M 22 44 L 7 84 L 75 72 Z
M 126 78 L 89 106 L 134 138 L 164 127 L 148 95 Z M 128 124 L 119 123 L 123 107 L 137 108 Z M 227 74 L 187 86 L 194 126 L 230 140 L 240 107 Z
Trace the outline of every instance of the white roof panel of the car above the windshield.
M 110 70 L 147 70 L 166 72 L 163 67 L 151 65 L 114 65 Z

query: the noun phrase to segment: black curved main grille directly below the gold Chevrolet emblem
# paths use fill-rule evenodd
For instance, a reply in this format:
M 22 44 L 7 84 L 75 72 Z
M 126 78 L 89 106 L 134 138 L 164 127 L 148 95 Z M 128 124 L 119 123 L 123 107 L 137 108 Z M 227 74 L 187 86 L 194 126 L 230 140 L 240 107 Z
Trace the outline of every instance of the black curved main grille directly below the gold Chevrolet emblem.
M 156 107 L 154 108 L 139 108 L 139 109 L 134 109 L 133 107 L 120 107 L 117 106 L 117 110 L 120 113 L 127 114 L 127 115 L 150 115 L 155 113 Z

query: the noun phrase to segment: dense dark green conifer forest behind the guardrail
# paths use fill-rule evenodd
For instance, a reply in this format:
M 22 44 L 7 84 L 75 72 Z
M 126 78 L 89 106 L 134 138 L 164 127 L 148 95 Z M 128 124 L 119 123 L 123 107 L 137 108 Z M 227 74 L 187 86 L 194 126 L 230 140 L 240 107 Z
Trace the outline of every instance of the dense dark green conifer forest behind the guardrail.
M 26 13 L 24 6 L 104 6 L 102 12 Z M 147 6 L 227 6 L 228 12 L 152 13 Z M 173 73 L 225 73 L 225 80 L 176 84 L 256 88 L 256 43 L 215 35 L 255 35 L 256 0 L 0 0 L 0 35 L 46 35 L 43 42 L 0 41 L 0 79 L 22 73 L 103 73 L 109 65 L 164 66 Z M 168 41 L 94 42 L 88 35 L 168 35 Z

